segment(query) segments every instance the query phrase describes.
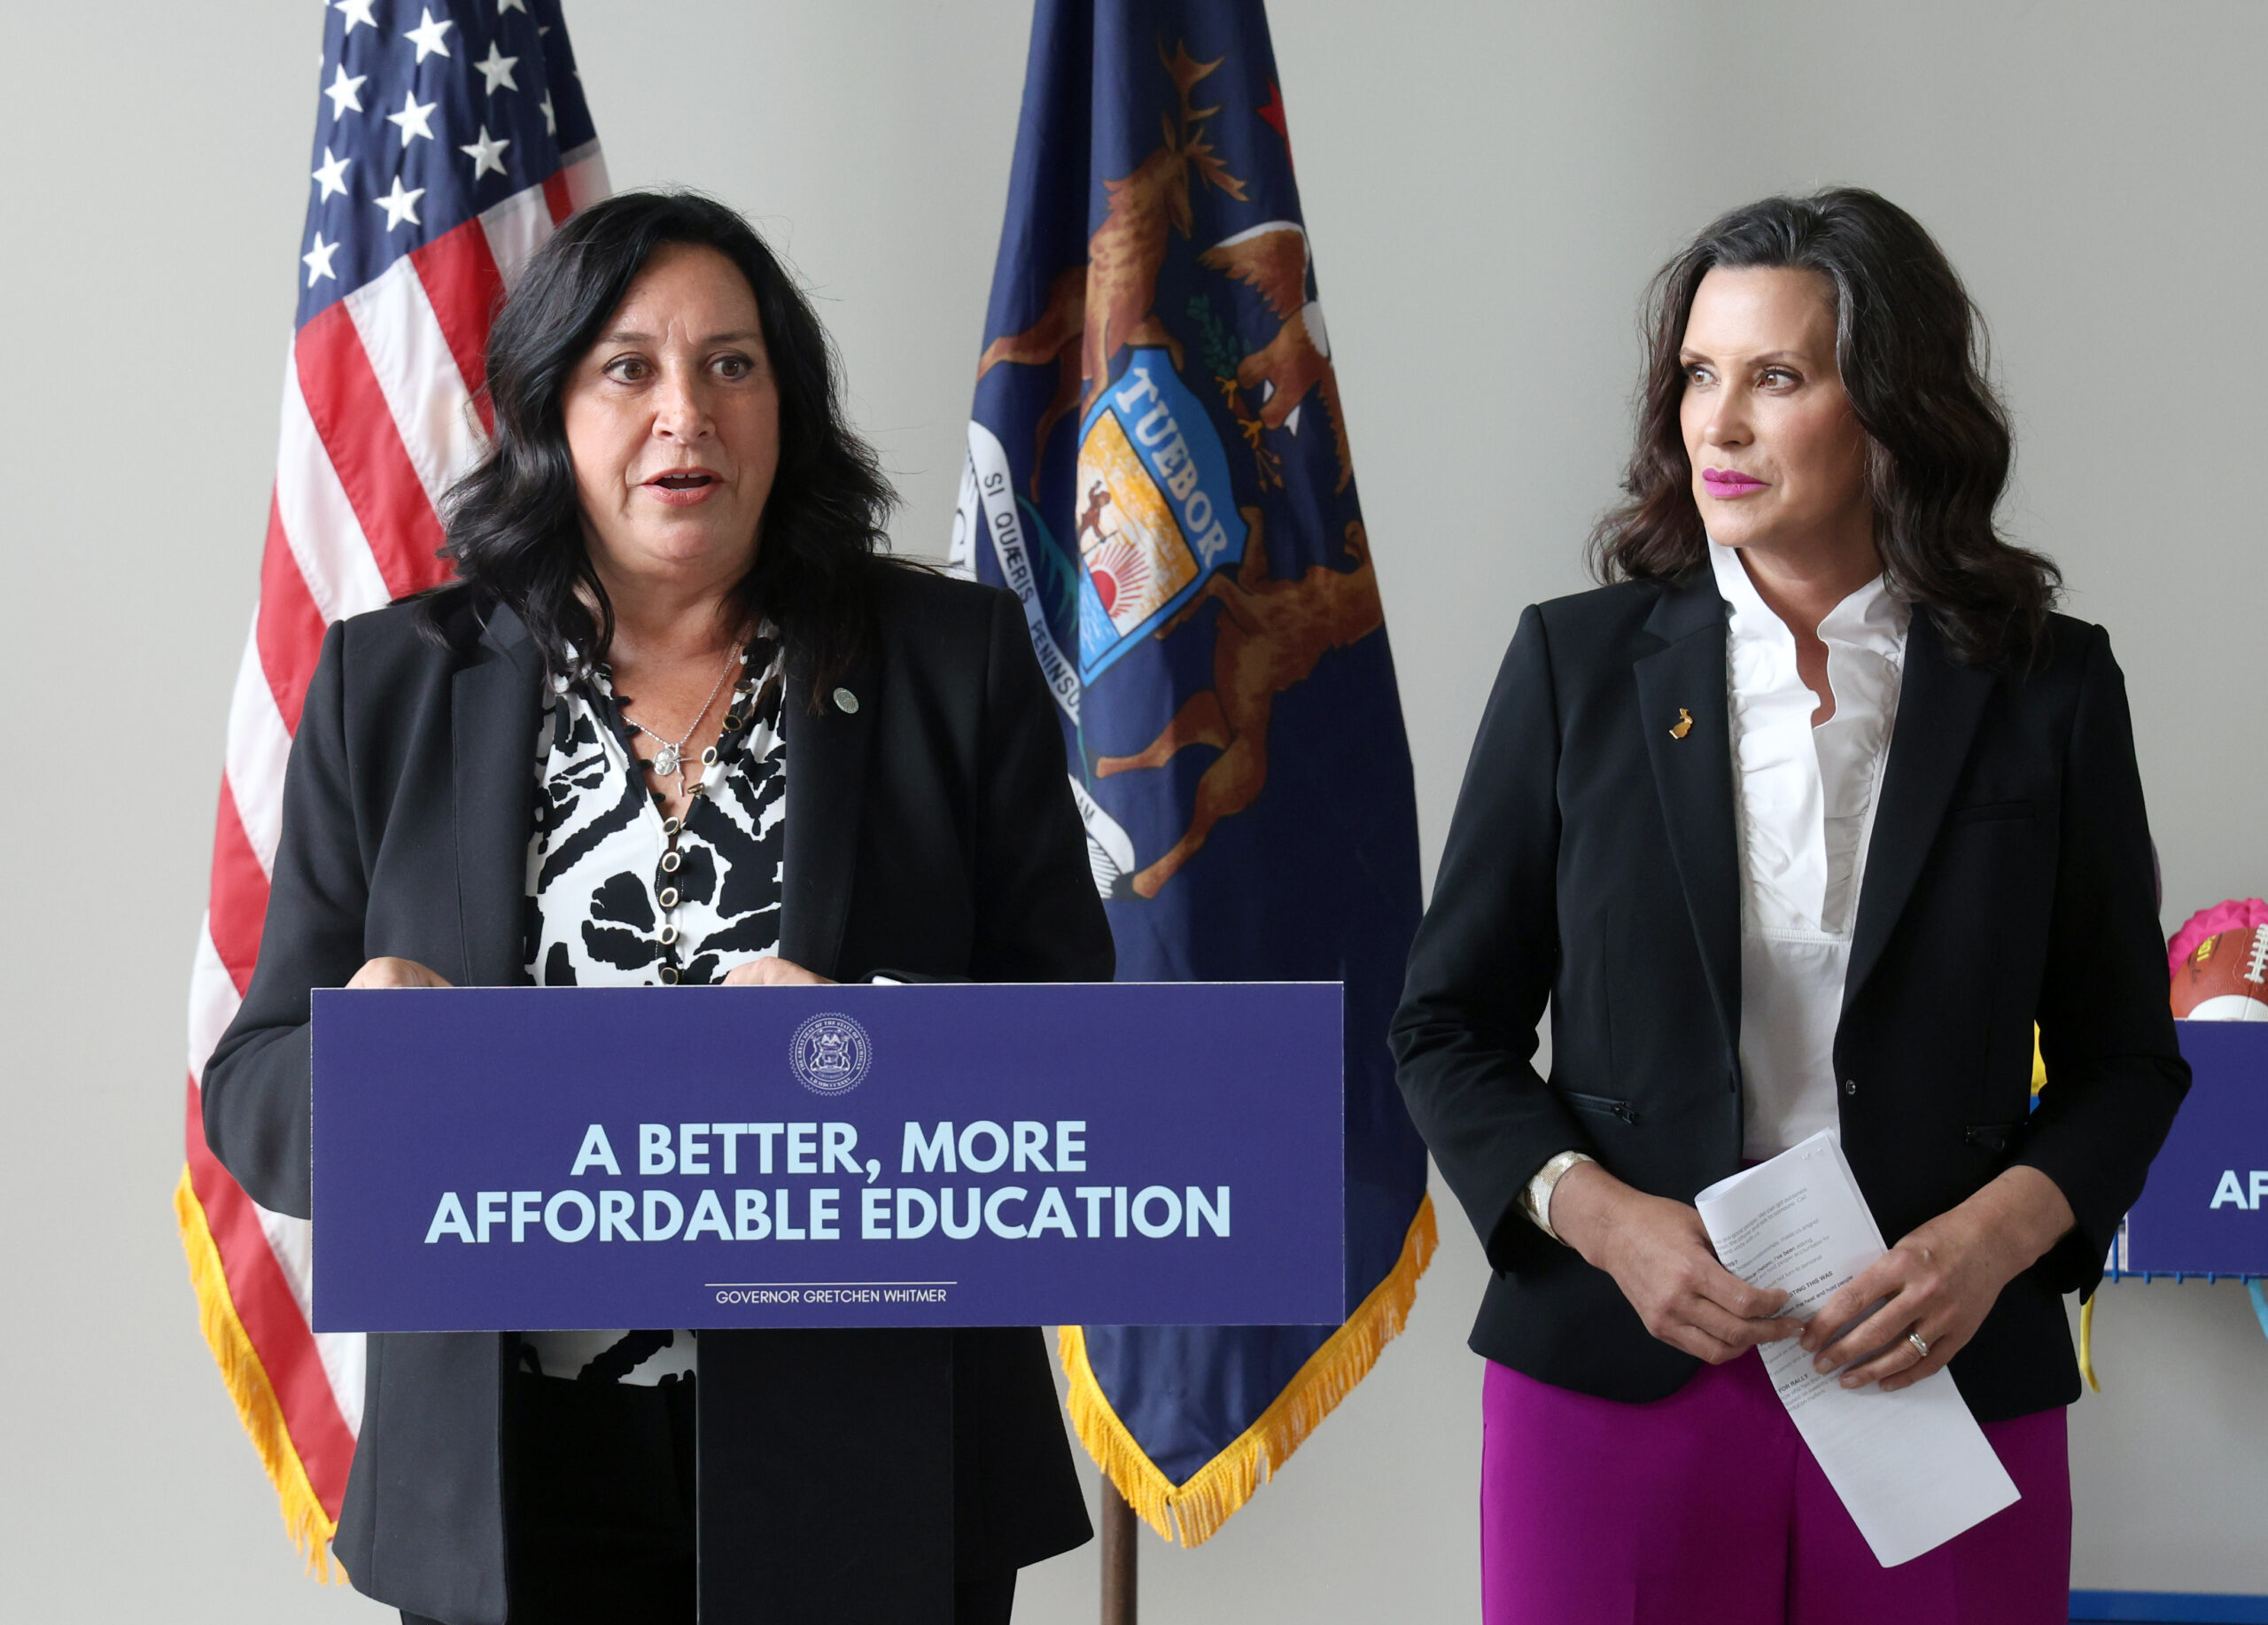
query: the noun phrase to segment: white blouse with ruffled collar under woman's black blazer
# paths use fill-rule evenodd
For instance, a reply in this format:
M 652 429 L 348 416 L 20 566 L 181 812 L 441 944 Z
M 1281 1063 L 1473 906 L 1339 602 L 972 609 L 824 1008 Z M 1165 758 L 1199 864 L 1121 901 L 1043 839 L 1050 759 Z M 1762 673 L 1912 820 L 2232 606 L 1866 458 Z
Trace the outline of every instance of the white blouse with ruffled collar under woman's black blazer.
M 1708 549 L 1726 601 L 1726 708 L 1740 819 L 1742 1155 L 1837 1126 L 1835 1028 L 1851 926 L 1905 674 L 1910 606 L 1880 576 L 1819 622 L 1835 715 L 1796 674 L 1796 638 L 1733 547 Z

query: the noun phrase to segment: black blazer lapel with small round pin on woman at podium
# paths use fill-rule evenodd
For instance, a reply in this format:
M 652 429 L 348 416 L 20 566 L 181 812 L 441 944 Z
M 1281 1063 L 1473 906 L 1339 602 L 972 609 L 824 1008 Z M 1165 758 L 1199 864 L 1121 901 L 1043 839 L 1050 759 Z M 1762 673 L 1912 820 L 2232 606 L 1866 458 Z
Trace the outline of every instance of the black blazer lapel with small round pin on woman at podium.
M 848 699 L 848 708 L 844 701 Z M 780 958 L 835 976 L 857 865 L 860 797 L 873 747 L 880 683 L 871 660 L 821 699 L 812 715 L 810 667 L 792 658 L 787 733 L 787 874 L 780 881 Z

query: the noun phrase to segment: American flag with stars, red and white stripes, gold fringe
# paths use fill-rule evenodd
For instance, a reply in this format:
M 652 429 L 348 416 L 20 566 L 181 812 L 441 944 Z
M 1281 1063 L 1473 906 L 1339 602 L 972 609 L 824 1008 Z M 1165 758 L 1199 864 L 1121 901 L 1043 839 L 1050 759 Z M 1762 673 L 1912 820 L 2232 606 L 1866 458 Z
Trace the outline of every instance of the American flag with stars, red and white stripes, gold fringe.
M 308 1328 L 308 1226 L 204 1146 L 197 1078 L 252 978 L 284 760 L 322 629 L 447 574 L 435 504 L 479 454 L 488 322 L 606 195 L 558 0 L 331 0 L 261 597 L 236 674 L 213 887 L 188 994 L 175 1192 L 206 1341 L 308 1561 L 329 1568 L 363 1339 Z

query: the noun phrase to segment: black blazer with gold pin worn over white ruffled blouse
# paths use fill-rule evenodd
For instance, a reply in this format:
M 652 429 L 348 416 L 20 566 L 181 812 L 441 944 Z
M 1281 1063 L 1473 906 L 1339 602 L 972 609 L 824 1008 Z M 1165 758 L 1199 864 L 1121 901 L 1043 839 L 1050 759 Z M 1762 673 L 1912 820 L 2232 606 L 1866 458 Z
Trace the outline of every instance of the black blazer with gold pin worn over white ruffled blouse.
M 1393 1042 L 1495 1266 L 1472 1348 L 1583 1394 L 1662 1398 L 1699 1362 L 1517 1198 L 1567 1148 L 1678 1201 L 1740 1169 L 1733 794 L 1726 611 L 1706 570 L 1522 615 Z M 1549 1080 L 1531 1064 L 1547 999 Z M 2028 1114 L 2034 1021 L 2050 1083 Z M 1955 665 L 1914 613 L 1835 1080 L 1889 1239 L 2009 1164 L 2057 1182 L 2077 1230 L 2007 1285 L 1953 1375 L 1984 1421 L 2075 1400 L 2059 1294 L 2093 1289 L 2189 1089 L 2102 629 L 2053 617 L 2039 667 L 2009 676 Z

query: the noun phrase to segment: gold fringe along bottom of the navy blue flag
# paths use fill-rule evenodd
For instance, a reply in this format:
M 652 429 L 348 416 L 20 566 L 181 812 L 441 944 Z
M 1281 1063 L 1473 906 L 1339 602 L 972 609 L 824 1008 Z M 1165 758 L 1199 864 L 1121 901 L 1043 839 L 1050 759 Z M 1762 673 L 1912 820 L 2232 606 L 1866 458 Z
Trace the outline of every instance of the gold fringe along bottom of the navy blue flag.
M 1433 1198 L 1427 1196 L 1417 1203 L 1417 1216 L 1402 1239 L 1402 1257 L 1386 1271 L 1386 1280 L 1372 1287 L 1347 1323 L 1309 1355 L 1259 1421 L 1198 1468 L 1186 1484 L 1175 1484 L 1150 1462 L 1102 1396 L 1102 1384 L 1086 1364 L 1086 1330 L 1057 1328 L 1064 1375 L 1070 1378 L 1073 1432 L 1143 1523 L 1168 1541 L 1179 1532 L 1182 1546 L 1204 1546 L 1290 1459 L 1322 1418 L 1338 1409 L 1354 1384 L 1370 1375 L 1386 1344 L 1402 1334 L 1417 1300 L 1417 1278 L 1438 1244 Z

